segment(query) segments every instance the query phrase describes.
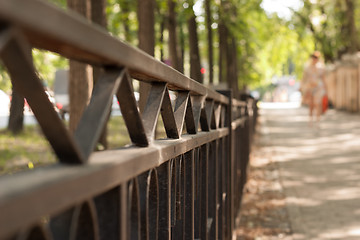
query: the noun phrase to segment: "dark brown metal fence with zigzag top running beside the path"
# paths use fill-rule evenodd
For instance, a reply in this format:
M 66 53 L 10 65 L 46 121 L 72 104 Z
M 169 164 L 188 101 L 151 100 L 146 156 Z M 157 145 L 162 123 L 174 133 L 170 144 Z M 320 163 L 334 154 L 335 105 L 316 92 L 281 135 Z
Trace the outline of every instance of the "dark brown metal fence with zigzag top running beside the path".
M 210 90 L 38 0 L 0 0 L 0 26 L 0 58 L 58 157 L 0 177 L 0 239 L 233 237 L 256 122 L 251 99 Z M 105 69 L 74 134 L 44 93 L 32 47 Z M 151 84 L 142 114 L 131 78 Z M 93 152 L 113 95 L 133 145 Z M 167 139 L 155 140 L 160 114 Z

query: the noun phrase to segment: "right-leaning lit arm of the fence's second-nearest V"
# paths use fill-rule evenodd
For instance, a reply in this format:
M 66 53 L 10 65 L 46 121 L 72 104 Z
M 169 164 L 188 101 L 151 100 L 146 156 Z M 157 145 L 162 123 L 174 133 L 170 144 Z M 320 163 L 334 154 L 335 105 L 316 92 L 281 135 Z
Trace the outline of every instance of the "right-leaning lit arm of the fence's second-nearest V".
M 165 83 L 151 83 L 150 93 L 142 115 L 144 129 L 149 142 L 154 140 L 156 123 L 166 91 Z

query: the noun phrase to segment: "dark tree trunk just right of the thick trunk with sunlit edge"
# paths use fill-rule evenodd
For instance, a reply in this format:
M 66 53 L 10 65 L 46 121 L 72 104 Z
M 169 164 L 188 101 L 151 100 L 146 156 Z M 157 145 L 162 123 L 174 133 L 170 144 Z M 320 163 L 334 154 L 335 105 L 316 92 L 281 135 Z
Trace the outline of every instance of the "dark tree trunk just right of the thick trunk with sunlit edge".
M 105 29 L 107 28 L 105 0 L 91 0 L 91 21 Z M 95 84 L 100 78 L 100 75 L 103 73 L 103 69 L 95 65 L 93 65 L 92 67 L 93 67 L 93 85 L 95 86 Z M 110 111 L 108 118 L 110 118 Z M 107 124 L 104 125 L 104 129 L 100 135 L 99 143 L 104 147 L 104 149 L 108 148 Z

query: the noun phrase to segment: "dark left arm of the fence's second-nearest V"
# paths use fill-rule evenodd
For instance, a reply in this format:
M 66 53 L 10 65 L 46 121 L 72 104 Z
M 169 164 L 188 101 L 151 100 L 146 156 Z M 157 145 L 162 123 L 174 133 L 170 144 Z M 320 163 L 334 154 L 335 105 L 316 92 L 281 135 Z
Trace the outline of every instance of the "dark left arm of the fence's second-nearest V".
M 134 90 L 131 84 L 131 77 L 128 71 L 124 74 L 124 78 L 120 83 L 116 97 L 118 99 L 121 114 L 124 118 L 132 143 L 142 147 L 148 146 L 149 141 L 146 136 L 143 120 L 136 104 Z

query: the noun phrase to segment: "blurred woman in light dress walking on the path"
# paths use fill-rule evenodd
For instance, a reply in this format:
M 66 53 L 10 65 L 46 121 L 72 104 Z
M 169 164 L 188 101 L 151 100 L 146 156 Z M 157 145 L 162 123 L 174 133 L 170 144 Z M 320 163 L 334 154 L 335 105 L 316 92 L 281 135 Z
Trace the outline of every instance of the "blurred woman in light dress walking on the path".
M 326 94 L 325 70 L 319 63 L 320 52 L 311 55 L 310 65 L 305 68 L 301 81 L 303 102 L 309 105 L 309 125 L 313 124 L 313 115 L 319 123 L 322 114 L 322 99 Z

